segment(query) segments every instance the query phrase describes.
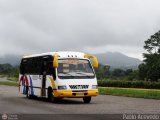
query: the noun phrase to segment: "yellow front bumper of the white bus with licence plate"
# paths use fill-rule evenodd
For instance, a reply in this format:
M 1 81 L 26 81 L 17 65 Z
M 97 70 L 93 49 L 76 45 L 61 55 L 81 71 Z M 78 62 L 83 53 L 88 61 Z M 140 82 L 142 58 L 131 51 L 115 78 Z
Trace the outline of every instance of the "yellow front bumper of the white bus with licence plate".
M 98 90 L 87 91 L 71 91 L 71 90 L 59 90 L 54 91 L 55 97 L 89 97 L 99 95 Z

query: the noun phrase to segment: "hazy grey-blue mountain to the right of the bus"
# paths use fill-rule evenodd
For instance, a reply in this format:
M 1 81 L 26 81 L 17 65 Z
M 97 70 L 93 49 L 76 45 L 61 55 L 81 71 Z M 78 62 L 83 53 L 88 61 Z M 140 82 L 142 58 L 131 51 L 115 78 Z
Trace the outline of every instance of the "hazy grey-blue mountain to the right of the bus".
M 119 52 L 107 52 L 103 54 L 95 54 L 99 62 L 103 65 L 109 65 L 112 68 L 133 68 L 137 69 L 138 65 L 142 63 L 137 58 L 128 57 Z

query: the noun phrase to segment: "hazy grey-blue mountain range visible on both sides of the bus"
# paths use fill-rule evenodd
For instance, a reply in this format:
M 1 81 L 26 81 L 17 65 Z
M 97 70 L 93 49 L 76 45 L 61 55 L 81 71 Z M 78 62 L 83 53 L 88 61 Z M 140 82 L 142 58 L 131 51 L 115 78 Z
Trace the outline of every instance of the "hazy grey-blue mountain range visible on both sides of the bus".
M 103 54 L 95 54 L 99 62 L 104 65 L 109 65 L 112 68 L 137 68 L 142 63 L 139 59 L 128 57 L 119 52 L 107 52 Z M 0 56 L 0 64 L 10 63 L 12 65 L 19 65 L 21 55 L 5 55 Z

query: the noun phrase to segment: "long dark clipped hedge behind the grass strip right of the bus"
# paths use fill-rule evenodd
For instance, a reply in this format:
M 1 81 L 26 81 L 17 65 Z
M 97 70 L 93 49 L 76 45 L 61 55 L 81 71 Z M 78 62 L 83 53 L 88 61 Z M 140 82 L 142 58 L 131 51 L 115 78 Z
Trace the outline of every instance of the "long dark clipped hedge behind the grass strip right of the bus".
M 98 86 L 101 86 L 101 87 L 160 89 L 160 82 L 124 81 L 124 80 L 98 80 Z

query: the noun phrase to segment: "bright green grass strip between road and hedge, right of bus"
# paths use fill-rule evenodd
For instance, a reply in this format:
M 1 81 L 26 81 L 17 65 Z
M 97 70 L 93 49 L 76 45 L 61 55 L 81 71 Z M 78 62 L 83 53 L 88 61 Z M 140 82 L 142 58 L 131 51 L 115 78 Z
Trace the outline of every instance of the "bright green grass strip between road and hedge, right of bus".
M 99 87 L 102 95 L 127 96 L 147 99 L 160 99 L 160 90 L 138 88 Z

